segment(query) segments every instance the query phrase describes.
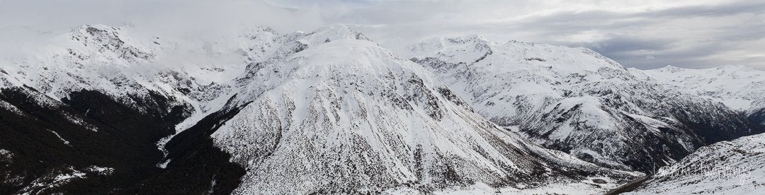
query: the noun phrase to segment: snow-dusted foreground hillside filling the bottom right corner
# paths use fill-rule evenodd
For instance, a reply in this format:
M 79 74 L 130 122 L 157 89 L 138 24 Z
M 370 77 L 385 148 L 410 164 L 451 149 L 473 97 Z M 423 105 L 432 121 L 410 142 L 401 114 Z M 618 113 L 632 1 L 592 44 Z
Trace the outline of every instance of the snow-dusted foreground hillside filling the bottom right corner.
M 628 194 L 761 194 L 765 134 L 704 146 Z

